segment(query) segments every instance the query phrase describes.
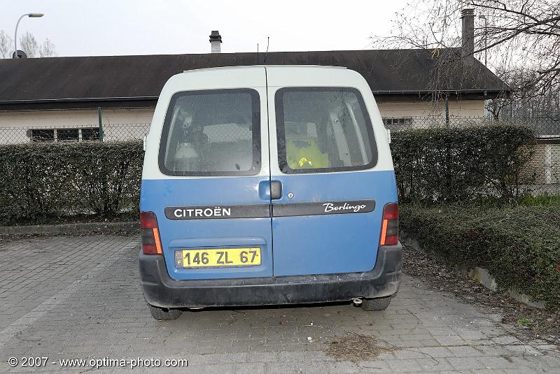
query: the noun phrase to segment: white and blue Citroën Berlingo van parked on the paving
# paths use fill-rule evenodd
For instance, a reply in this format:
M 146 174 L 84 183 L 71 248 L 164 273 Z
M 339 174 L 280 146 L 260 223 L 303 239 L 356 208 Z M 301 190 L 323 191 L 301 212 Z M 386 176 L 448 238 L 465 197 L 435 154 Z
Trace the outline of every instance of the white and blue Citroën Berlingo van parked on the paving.
M 388 131 L 355 71 L 174 75 L 146 138 L 140 211 L 140 280 L 155 319 L 351 300 L 382 310 L 398 289 Z

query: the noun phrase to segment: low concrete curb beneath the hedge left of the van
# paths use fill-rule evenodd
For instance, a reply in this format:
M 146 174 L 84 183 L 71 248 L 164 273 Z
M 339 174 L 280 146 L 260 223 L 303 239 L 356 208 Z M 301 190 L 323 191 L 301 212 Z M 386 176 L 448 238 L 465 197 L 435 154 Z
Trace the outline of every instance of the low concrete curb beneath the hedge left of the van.
M 76 224 L 38 224 L 33 226 L 0 226 L 0 235 L 111 233 L 137 231 L 138 222 L 85 222 Z

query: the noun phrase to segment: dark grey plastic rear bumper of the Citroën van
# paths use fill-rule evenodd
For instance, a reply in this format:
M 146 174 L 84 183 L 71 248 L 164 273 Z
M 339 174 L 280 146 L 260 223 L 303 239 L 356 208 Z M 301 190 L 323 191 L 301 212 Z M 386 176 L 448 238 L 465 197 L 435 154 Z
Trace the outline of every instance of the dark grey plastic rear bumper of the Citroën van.
M 162 256 L 140 252 L 139 263 L 144 297 L 160 308 L 320 303 L 397 292 L 402 245 L 379 247 L 375 267 L 363 273 L 173 280 Z

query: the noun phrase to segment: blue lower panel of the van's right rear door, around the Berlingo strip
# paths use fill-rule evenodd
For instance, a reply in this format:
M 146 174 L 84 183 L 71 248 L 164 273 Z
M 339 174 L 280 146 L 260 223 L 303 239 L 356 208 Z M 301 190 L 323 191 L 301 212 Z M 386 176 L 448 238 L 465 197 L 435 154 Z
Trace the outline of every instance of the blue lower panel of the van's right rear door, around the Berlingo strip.
M 375 266 L 381 216 L 397 201 L 394 171 L 272 175 L 279 203 L 374 200 L 370 213 L 272 217 L 274 276 L 353 273 Z M 287 197 L 292 192 L 293 198 Z

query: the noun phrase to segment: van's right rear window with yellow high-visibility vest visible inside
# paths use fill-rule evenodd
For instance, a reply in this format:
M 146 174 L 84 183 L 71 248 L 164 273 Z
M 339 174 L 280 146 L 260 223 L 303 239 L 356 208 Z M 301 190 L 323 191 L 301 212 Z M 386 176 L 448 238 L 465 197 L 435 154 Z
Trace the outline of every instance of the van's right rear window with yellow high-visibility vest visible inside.
M 362 170 L 377 163 L 370 116 L 357 89 L 283 88 L 275 106 L 283 173 Z

